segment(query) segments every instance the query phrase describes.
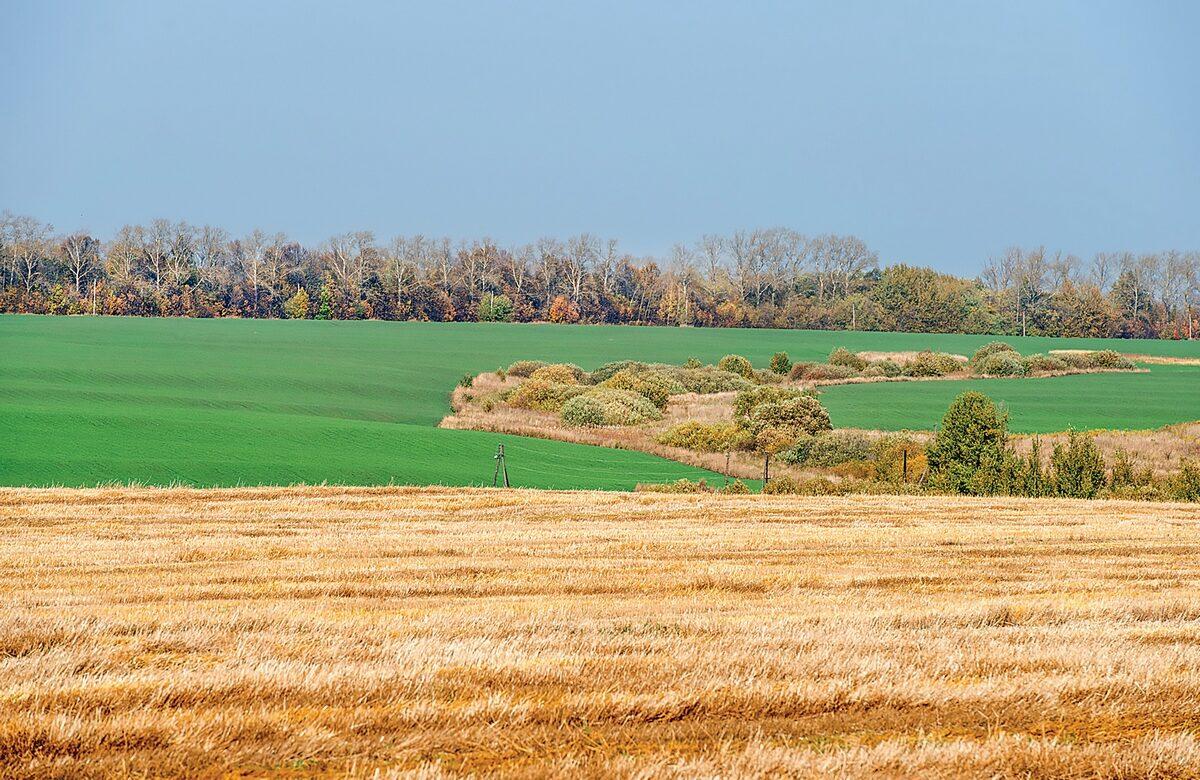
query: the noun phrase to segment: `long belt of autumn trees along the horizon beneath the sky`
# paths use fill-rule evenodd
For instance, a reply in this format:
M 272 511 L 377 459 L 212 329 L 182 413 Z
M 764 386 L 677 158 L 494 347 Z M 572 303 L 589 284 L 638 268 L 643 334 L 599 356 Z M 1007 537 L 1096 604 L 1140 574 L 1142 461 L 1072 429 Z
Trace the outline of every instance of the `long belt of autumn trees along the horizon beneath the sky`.
M 359 232 L 305 246 L 168 220 L 103 240 L 4 212 L 0 269 L 4 312 L 1200 335 L 1200 252 L 1013 247 L 966 278 L 784 228 L 635 257 L 588 234 L 503 247 Z

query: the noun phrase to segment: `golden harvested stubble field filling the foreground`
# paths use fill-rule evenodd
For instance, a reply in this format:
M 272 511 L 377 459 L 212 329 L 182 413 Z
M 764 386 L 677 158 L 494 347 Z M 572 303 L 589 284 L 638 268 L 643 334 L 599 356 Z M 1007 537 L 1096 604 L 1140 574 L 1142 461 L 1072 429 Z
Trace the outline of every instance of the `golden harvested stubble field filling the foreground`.
M 2 776 L 1200 766 L 1194 505 L 5 490 L 0 522 Z

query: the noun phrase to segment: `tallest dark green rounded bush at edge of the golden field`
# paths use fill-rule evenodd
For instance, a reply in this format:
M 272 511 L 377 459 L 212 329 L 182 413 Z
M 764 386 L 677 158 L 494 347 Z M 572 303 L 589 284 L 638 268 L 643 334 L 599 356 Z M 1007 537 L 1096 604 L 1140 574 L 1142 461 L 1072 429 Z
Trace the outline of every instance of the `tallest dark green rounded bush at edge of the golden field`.
M 1008 415 L 982 392 L 964 392 L 950 404 L 925 450 L 930 485 L 952 493 L 988 493 L 1007 458 Z

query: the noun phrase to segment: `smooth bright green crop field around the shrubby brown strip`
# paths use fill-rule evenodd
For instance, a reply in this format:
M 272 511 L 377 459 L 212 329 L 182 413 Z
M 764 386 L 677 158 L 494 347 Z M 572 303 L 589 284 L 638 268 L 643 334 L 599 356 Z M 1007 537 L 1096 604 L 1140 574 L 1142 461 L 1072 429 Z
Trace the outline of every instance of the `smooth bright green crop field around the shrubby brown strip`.
M 970 354 L 986 336 L 588 325 L 0 317 L 0 484 L 490 482 L 505 442 L 517 485 L 628 488 L 704 472 L 624 452 L 436 428 L 467 372 L 521 358 L 594 367 L 637 358 L 766 365 L 784 349 Z M 1200 342 L 1006 338 L 1024 353 L 1104 348 L 1200 358 Z M 1146 428 L 1200 419 L 1200 367 L 1024 380 L 846 385 L 838 426 L 929 428 L 965 388 L 1016 431 Z M 713 475 L 708 475 L 713 478 Z

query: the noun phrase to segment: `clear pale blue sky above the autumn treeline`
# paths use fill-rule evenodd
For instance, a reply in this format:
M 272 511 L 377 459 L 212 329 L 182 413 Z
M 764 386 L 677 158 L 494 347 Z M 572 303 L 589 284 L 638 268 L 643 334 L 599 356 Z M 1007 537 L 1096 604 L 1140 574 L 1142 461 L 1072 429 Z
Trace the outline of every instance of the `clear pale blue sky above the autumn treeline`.
M 1200 2 L 0 0 L 0 209 L 852 233 L 974 274 L 1008 246 L 1200 248 Z

